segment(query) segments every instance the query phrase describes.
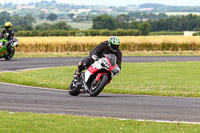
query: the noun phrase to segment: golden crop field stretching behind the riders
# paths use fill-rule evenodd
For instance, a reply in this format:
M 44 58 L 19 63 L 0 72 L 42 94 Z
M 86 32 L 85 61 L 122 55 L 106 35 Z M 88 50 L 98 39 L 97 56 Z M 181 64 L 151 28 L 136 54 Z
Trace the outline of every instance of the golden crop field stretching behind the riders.
M 119 37 L 122 51 L 199 51 L 200 37 Z M 109 37 L 19 37 L 18 52 L 86 52 Z

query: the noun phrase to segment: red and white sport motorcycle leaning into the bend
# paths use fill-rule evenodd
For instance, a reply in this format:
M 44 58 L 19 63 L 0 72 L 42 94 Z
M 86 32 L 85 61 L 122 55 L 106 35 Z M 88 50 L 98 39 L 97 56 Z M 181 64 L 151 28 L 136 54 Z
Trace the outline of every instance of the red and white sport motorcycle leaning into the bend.
M 89 93 L 93 97 L 99 95 L 113 77 L 120 72 L 116 60 L 117 57 L 114 54 L 107 54 L 95 61 L 85 72 L 81 72 L 78 78 L 72 80 L 69 94 L 78 96 Z

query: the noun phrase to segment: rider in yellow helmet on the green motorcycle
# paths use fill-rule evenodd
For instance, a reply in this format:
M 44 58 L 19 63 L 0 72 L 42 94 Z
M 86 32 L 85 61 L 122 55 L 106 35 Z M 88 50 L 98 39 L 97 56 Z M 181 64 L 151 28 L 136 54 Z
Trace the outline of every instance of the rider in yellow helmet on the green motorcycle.
M 1 32 L 2 38 L 6 38 L 8 41 L 6 42 L 8 53 L 11 52 L 11 41 L 14 37 L 14 31 L 11 29 L 12 24 L 11 22 L 6 22 L 4 25 L 4 29 Z

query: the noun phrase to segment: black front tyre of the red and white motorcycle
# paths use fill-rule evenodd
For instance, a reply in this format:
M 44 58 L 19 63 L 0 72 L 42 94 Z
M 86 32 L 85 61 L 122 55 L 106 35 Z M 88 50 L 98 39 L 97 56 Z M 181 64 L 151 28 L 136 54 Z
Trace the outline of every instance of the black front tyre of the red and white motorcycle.
M 96 80 L 96 78 L 94 80 Z M 91 86 L 90 96 L 95 97 L 95 96 L 99 95 L 99 93 L 104 89 L 104 87 L 108 83 L 108 75 L 103 74 L 99 82 L 100 83 L 98 84 L 98 86 L 95 90 L 92 90 L 92 86 Z

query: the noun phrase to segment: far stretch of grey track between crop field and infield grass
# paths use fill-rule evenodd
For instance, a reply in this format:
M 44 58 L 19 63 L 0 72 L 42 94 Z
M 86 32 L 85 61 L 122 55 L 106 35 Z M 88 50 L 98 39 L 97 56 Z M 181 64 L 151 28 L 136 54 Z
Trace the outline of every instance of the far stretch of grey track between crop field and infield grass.
M 13 71 L 29 68 L 56 67 L 77 65 L 83 58 L 13 58 L 11 61 L 0 60 L 0 71 Z M 123 62 L 174 62 L 174 61 L 200 61 L 200 56 L 144 56 L 123 57 Z

